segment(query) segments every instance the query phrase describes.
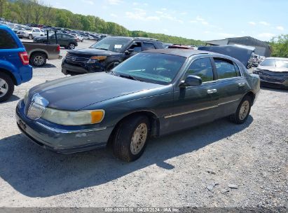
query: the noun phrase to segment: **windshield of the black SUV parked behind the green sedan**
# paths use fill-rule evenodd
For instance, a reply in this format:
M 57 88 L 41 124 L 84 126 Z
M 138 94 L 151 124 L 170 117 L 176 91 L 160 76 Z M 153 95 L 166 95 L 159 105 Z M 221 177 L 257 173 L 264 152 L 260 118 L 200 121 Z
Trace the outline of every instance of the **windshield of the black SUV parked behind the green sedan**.
M 130 43 L 130 38 L 107 37 L 93 44 L 90 48 L 110 50 L 112 52 L 121 53 Z

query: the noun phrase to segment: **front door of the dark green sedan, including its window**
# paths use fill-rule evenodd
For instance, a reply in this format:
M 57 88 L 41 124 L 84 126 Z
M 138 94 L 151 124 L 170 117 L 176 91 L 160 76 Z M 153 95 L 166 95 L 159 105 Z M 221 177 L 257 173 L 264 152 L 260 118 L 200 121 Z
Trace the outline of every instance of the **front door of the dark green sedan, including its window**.
M 214 71 L 210 57 L 194 60 L 188 67 L 184 78 L 188 75 L 200 76 L 203 83 L 198 86 L 174 88 L 174 109 L 165 116 L 170 130 L 181 130 L 194 125 L 214 120 L 217 111 L 218 93 Z

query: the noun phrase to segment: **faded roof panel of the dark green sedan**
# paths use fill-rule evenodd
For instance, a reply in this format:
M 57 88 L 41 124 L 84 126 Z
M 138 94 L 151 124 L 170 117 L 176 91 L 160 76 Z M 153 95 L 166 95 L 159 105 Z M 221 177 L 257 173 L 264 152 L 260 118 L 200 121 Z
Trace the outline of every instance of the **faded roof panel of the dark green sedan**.
M 211 53 L 211 52 L 203 51 L 203 50 L 177 49 L 177 48 L 145 50 L 144 53 L 162 53 L 162 54 L 168 54 L 168 55 L 178 55 L 181 57 L 191 57 L 191 55 L 199 55 L 199 54 L 221 55 L 221 54 Z

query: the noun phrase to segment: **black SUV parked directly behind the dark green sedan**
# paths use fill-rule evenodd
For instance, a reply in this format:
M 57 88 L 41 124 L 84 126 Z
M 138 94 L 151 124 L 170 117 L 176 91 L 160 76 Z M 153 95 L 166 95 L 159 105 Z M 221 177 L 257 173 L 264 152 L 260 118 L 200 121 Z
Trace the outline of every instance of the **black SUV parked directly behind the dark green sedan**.
M 87 49 L 70 50 L 62 61 L 62 73 L 67 75 L 109 71 L 136 53 L 162 49 L 156 39 L 109 36 Z

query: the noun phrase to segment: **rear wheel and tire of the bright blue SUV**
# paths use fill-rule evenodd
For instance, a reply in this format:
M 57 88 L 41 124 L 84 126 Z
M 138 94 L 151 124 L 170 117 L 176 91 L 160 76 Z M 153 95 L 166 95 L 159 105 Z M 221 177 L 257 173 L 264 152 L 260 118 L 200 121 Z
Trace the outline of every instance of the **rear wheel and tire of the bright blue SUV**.
M 10 76 L 0 73 L 0 102 L 11 97 L 14 92 L 14 83 Z

